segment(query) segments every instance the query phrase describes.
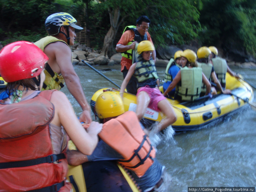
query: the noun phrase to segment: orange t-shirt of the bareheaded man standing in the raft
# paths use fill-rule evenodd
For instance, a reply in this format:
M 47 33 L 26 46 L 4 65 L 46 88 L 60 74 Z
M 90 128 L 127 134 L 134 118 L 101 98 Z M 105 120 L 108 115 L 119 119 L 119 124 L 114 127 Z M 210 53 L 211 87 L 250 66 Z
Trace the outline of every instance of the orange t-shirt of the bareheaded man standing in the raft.
M 133 30 L 125 31 L 122 34 L 122 36 L 121 36 L 120 40 L 118 41 L 117 45 L 118 44 L 127 45 L 129 42 L 131 42 L 134 39 L 134 36 L 135 35 L 134 35 Z M 149 41 L 152 42 L 151 36 L 148 32 L 147 32 L 147 38 L 148 38 Z M 152 44 L 153 44 L 153 42 L 152 42 Z M 127 69 L 129 69 L 131 67 L 131 65 L 132 65 L 132 60 L 131 59 L 127 59 L 125 57 L 122 57 L 122 59 L 121 59 L 121 72 L 123 72 L 123 69 L 124 69 L 125 66 L 126 66 Z

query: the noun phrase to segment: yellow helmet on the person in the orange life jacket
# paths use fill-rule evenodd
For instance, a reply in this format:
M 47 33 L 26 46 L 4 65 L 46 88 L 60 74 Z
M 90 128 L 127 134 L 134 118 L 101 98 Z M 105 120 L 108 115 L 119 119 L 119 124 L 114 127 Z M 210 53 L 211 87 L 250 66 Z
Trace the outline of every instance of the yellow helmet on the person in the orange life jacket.
M 121 96 L 114 91 L 101 93 L 95 103 L 95 112 L 100 119 L 123 114 L 125 110 Z

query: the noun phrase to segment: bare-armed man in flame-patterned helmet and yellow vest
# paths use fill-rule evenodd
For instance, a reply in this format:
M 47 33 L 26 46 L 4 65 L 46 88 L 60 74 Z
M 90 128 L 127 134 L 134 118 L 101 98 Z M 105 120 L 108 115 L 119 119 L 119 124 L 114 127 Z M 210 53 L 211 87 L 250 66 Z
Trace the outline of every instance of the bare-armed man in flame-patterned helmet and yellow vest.
M 74 96 L 82 108 L 80 121 L 92 122 L 90 106 L 84 95 L 80 79 L 72 65 L 69 46 L 74 45 L 76 33 L 83 28 L 76 25 L 77 20 L 69 13 L 54 13 L 46 18 L 45 27 L 49 36 L 35 42 L 49 57 L 45 67 L 46 79 L 42 90 L 57 89 L 64 86 Z

